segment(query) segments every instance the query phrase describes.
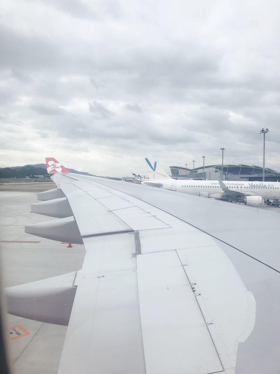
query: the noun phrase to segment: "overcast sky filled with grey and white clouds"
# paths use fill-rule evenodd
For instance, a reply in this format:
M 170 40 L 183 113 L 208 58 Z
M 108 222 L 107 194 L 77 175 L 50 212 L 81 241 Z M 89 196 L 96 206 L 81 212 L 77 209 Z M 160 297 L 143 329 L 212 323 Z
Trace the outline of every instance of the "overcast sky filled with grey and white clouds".
M 122 177 L 221 163 L 280 171 L 279 1 L 9 0 L 0 167 L 56 157 Z

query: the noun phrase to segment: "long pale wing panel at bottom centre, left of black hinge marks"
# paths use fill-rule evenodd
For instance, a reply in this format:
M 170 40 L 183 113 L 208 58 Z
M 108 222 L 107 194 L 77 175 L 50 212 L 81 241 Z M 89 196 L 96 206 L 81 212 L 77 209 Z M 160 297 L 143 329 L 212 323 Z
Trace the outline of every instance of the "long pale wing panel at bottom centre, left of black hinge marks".
M 176 251 L 137 255 L 137 279 L 146 373 L 223 371 Z

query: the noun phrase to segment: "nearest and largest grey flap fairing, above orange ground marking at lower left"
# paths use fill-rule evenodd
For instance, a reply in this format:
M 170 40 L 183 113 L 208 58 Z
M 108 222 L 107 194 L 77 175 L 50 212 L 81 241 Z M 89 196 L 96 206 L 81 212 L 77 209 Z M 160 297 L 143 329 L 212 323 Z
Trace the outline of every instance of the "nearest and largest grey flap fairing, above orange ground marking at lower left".
M 6 288 L 7 312 L 35 321 L 68 325 L 76 272 Z

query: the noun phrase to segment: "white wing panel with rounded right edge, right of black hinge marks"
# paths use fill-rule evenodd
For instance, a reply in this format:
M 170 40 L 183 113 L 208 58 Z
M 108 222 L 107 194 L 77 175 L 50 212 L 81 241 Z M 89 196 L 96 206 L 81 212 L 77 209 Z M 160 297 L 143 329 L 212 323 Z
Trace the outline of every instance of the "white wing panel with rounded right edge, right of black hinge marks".
M 234 367 L 237 345 L 248 338 L 255 325 L 256 302 L 252 292 L 246 289 L 232 262 L 218 245 L 176 252 L 190 283 L 195 285 L 200 310 L 211 323 L 208 329 L 221 361 L 225 367 Z

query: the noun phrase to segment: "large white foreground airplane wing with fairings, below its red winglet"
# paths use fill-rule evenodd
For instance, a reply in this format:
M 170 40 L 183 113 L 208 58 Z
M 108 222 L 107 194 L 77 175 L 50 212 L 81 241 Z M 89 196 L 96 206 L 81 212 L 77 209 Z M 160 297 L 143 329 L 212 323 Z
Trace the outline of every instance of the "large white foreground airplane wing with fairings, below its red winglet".
M 32 283 L 11 287 L 7 304 L 42 320 L 35 292 L 40 313 L 45 305 L 47 318 L 69 320 L 60 374 L 279 372 L 279 214 L 72 173 L 52 179 L 58 189 L 31 210 L 60 218 L 25 230 L 83 242 L 83 268 L 41 283 L 42 295 Z M 19 295 L 31 311 L 20 312 Z

